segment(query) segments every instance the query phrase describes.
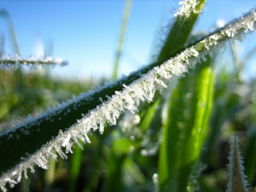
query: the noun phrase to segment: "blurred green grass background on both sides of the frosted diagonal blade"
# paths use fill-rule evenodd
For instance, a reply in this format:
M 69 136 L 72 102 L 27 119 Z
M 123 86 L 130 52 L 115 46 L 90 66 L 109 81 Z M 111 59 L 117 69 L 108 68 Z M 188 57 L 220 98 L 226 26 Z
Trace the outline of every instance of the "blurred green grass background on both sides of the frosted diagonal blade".
M 188 23 L 192 29 L 195 21 Z M 175 30 L 178 27 L 182 28 L 177 23 Z M 168 41 L 173 40 L 165 43 Z M 168 57 L 187 41 L 162 52 L 161 57 Z M 255 77 L 243 79 L 247 61 L 256 49 L 241 58 L 238 46 L 235 43 L 226 52 L 207 57 L 173 89 L 162 96 L 157 94 L 155 102 L 143 104 L 138 114 L 123 114 L 116 126 L 105 128 L 103 135 L 90 135 L 91 144 L 84 150 L 76 146 L 67 160 L 51 159 L 50 169 L 36 168 L 35 174 L 29 173 L 28 179 L 23 178 L 11 190 L 224 191 L 231 135 L 240 137 L 245 173 L 250 186 L 256 186 L 256 84 Z M 13 120 L 36 116 L 46 107 L 108 80 L 54 79 L 50 70 L 0 70 L 2 129 Z

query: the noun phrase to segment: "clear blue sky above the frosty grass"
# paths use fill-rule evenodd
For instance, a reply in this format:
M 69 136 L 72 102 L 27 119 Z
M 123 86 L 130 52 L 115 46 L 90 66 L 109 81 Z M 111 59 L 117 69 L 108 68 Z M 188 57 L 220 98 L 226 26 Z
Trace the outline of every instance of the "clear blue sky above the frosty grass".
M 255 7 L 255 0 L 208 0 L 195 31 L 209 31 L 216 20 L 226 22 Z M 52 44 L 54 57 L 69 61 L 52 69 L 54 77 L 110 76 L 121 26 L 123 0 L 1 0 L 0 9 L 12 18 L 23 57 L 40 55 Z M 146 65 L 156 50 L 161 26 L 172 18 L 178 0 L 134 0 L 124 42 L 119 74 Z M 14 54 L 6 21 L 0 18 L 4 50 Z M 240 48 L 256 45 L 250 35 Z M 254 71 L 255 72 L 255 71 Z

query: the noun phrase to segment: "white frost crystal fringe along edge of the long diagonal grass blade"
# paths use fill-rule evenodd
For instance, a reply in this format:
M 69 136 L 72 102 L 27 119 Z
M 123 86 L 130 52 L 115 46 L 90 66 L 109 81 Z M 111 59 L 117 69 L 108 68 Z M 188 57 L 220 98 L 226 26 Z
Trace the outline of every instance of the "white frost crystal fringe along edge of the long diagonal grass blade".
M 96 109 L 83 116 L 82 119 L 78 120 L 77 124 L 71 126 L 64 133 L 60 130 L 57 137 L 47 142 L 36 153 L 28 155 L 28 158 L 22 159 L 13 169 L 2 174 L 0 188 L 6 191 L 6 183 L 9 183 L 11 187 L 19 183 L 22 172 L 24 172 L 25 177 L 27 177 L 28 168 L 30 168 L 31 172 L 34 172 L 34 164 L 47 169 L 49 157 L 52 156 L 57 159 L 57 155 L 54 153 L 55 150 L 59 156 L 66 159 L 67 155 L 62 151 L 61 146 L 65 147 L 66 153 L 72 153 L 72 147 L 75 143 L 82 148 L 79 140 L 83 143 L 90 143 L 87 134 L 91 129 L 94 131 L 99 129 L 102 133 L 105 122 L 108 121 L 109 124 L 115 125 L 124 108 L 132 112 L 137 111 L 140 101 L 152 101 L 156 90 L 167 87 L 165 82 L 178 78 L 178 76 L 187 72 L 189 68 L 193 68 L 201 59 L 204 60 L 207 54 L 222 49 L 227 41 L 242 40 L 246 33 L 254 30 L 256 27 L 255 22 L 256 9 L 252 9 L 242 17 L 226 25 L 223 30 L 187 48 L 161 66 L 153 68 L 129 86 L 123 85 L 124 88 L 121 92 L 116 91 L 115 95 L 108 97 L 108 101 L 102 102 L 102 105 L 97 106 Z

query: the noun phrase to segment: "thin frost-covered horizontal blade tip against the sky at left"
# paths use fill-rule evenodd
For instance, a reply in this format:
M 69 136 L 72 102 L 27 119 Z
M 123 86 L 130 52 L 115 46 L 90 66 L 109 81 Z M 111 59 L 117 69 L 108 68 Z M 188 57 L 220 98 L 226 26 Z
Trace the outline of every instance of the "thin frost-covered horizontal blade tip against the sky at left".
M 24 59 L 20 57 L 19 55 L 15 55 L 14 57 L 11 57 L 10 55 L 3 53 L 0 57 L 0 68 L 11 68 L 11 69 L 17 69 L 19 65 L 27 65 L 30 66 L 30 68 L 33 68 L 35 65 L 67 65 L 67 61 L 63 61 L 61 58 L 57 57 L 56 59 L 53 59 L 52 57 L 41 57 L 41 58 L 35 58 L 33 56 Z

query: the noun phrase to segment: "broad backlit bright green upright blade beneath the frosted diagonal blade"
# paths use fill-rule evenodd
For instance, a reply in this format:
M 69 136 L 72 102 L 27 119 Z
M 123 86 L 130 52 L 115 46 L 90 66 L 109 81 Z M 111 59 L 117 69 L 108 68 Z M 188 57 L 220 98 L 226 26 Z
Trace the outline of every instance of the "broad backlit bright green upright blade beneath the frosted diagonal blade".
M 211 59 L 180 79 L 173 89 L 158 166 L 160 188 L 184 191 L 199 161 L 213 100 Z

